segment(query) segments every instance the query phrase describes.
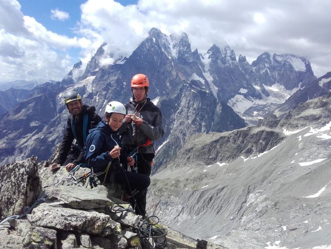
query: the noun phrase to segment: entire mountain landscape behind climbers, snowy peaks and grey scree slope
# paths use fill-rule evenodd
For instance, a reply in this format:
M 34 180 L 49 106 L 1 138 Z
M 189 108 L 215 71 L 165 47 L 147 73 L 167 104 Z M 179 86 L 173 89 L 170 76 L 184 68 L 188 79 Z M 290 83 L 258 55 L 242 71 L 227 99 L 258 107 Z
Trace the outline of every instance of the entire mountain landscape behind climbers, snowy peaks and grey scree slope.
M 291 54 L 265 52 L 250 64 L 227 44 L 211 44 L 200 54 L 185 33 L 167 36 L 156 28 L 130 56 L 111 65 L 101 63 L 109 56 L 105 45 L 85 69 L 76 63 L 61 82 L 0 91 L 0 165 L 52 155 L 68 116 L 66 90 L 79 92 L 102 116 L 106 103 L 128 102 L 131 77 L 145 73 L 148 97 L 160 108 L 165 130 L 155 143 L 150 212 L 184 234 L 229 248 L 263 248 L 268 242 L 273 248 L 279 240 L 300 248 L 310 247 L 299 240 L 322 245 L 308 232 L 320 217 L 328 219 L 323 210 L 322 216 L 312 213 L 329 207 L 329 198 L 316 206 L 313 198 L 300 196 L 319 190 L 320 183 L 304 188 L 316 174 L 328 186 L 331 72 L 317 79 L 307 59 Z M 322 128 L 322 141 L 307 135 Z M 300 165 L 323 158 L 309 169 Z M 312 216 L 305 223 L 298 217 L 308 207 Z M 286 216 L 289 209 L 296 211 Z M 321 243 L 331 244 L 326 240 Z

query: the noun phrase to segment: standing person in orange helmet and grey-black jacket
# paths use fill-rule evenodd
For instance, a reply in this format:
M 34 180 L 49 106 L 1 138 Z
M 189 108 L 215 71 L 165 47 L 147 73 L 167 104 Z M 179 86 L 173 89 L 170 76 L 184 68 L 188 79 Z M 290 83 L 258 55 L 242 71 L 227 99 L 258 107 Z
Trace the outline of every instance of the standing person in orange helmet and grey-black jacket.
M 132 101 L 125 104 L 127 115 L 119 132 L 123 146 L 135 157 L 133 169 L 150 176 L 155 156 L 153 141 L 160 139 L 164 130 L 161 111 L 147 97 L 148 89 L 149 81 L 145 74 L 138 73 L 132 77 Z M 146 194 L 147 189 L 136 200 L 136 214 L 146 215 Z

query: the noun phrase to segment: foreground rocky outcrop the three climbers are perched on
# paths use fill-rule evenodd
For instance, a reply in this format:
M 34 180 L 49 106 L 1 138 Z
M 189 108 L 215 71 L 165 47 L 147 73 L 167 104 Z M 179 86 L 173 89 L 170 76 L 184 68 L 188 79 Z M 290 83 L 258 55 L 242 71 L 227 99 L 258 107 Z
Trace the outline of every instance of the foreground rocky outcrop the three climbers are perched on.
M 38 163 L 36 158 L 30 158 L 8 164 L 0 171 L 1 179 L 8 183 L 1 186 L 2 218 L 18 215 L 27 206 L 32 207 L 27 218 L 12 217 L 0 225 L 1 248 L 153 248 L 145 239 L 146 233 L 142 228 L 151 228 L 152 234 L 155 233 L 153 237 L 166 233 L 165 227 L 161 230 L 149 225 L 141 216 L 130 211 L 133 209 L 129 204 L 114 197 L 122 198 L 122 186 L 98 185 L 91 189 L 82 187 L 86 184 L 81 182 L 79 187 L 72 177 L 68 180 L 72 175 L 68 176 L 64 167 L 51 172 L 48 165 L 48 162 Z M 86 169 L 79 169 L 74 177 L 78 179 L 85 172 Z M 35 206 L 41 186 L 44 202 Z M 13 206 L 13 201 L 16 206 Z M 169 242 L 162 248 L 178 248 L 177 245 L 195 248 L 196 240 L 170 228 L 168 230 Z M 163 242 L 162 238 L 151 240 Z M 208 248 L 224 248 L 215 246 L 208 244 Z

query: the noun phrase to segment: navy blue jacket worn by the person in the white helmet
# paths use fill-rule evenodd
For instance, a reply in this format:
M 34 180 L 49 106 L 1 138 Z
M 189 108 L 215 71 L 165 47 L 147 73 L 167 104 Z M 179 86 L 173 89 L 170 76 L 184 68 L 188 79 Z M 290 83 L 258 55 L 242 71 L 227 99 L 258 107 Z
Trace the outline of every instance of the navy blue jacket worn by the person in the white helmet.
M 121 147 L 121 139 L 118 132 L 113 131 L 105 121 L 99 122 L 95 129 L 90 130 L 86 139 L 86 166 L 89 168 L 93 167 L 95 173 L 104 171 L 108 163 L 113 160 L 109 152 L 113 150 L 115 145 Z M 123 151 L 121 148 L 120 161 L 126 162 L 127 155 L 124 155 Z

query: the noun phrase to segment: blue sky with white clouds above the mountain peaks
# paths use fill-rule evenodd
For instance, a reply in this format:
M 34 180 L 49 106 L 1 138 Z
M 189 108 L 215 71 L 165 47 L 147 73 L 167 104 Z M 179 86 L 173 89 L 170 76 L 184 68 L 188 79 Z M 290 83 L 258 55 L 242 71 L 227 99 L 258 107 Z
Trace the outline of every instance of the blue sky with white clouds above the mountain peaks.
M 153 27 L 187 33 L 201 54 L 226 42 L 250 63 L 263 52 L 302 56 L 319 77 L 331 71 L 330 9 L 329 0 L 0 0 L 0 82 L 60 81 L 104 42 L 111 64 Z

